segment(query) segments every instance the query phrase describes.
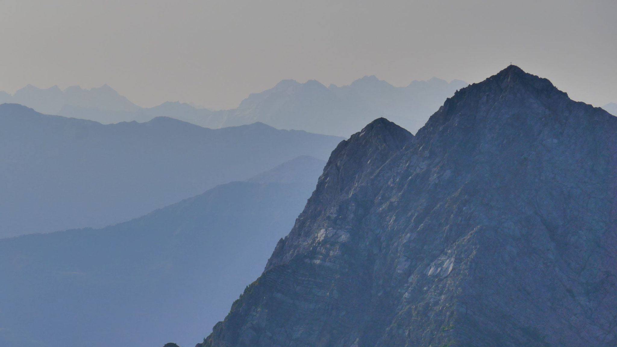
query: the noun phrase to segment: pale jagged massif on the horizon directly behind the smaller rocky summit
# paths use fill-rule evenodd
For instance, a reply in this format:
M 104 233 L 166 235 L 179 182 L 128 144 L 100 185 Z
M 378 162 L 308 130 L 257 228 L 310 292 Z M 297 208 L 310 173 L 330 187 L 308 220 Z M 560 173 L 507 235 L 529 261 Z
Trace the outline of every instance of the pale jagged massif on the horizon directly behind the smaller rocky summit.
M 388 117 L 416 132 L 446 98 L 467 83 L 439 78 L 395 87 L 375 76 L 349 86 L 329 88 L 310 80 L 284 80 L 274 88 L 251 94 L 223 125 L 263 122 L 276 128 L 296 128 L 329 135 L 349 136 L 377 117 Z

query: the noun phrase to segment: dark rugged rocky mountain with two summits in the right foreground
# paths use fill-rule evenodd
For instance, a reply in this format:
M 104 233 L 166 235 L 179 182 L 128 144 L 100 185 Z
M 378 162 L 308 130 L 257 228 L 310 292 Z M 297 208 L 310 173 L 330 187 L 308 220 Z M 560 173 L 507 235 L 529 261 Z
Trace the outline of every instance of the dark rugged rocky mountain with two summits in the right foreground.
M 332 153 L 202 347 L 617 345 L 617 119 L 514 65 Z

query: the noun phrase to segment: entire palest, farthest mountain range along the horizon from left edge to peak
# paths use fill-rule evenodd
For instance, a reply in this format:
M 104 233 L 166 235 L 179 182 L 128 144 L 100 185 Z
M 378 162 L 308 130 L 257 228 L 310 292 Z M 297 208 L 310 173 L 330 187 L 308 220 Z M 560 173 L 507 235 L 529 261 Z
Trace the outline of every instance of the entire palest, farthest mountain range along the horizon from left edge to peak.
M 212 111 L 180 102 L 141 108 L 105 85 L 83 90 L 69 87 L 26 86 L 14 96 L 0 94 L 0 103 L 15 102 L 44 114 L 64 115 L 101 123 L 147 122 L 172 117 L 207 128 L 262 122 L 279 129 L 296 129 L 326 135 L 349 136 L 377 117 L 388 117 L 416 132 L 446 98 L 467 83 L 439 78 L 395 87 L 375 76 L 348 86 L 326 86 L 310 80 L 283 80 L 270 90 L 251 94 L 236 109 Z

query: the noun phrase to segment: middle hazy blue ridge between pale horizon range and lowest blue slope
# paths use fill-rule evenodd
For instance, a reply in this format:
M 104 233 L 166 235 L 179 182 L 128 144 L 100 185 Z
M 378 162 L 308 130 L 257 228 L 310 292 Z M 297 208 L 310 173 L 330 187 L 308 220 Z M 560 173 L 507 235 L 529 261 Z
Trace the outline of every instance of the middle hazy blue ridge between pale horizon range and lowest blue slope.
M 0 237 L 104 227 L 342 138 L 263 123 L 212 130 L 158 117 L 102 125 L 0 105 Z

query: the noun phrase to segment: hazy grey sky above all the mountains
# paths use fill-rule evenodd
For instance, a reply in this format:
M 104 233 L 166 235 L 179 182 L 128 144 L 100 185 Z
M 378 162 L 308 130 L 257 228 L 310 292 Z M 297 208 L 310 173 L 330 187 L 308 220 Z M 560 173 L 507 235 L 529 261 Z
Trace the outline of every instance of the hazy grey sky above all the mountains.
M 617 1 L 3 0 L 0 90 L 104 83 L 214 108 L 284 78 L 480 80 L 510 62 L 617 102 Z

